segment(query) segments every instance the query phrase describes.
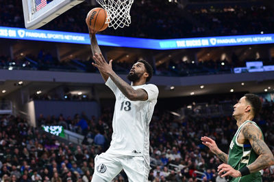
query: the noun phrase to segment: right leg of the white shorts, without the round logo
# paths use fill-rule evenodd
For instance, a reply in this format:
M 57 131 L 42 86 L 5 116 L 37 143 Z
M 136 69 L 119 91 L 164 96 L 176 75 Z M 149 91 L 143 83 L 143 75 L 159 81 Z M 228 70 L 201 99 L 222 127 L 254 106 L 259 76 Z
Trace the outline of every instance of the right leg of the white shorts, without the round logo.
M 129 182 L 148 181 L 149 166 L 145 164 L 144 157 L 125 156 L 121 162 Z

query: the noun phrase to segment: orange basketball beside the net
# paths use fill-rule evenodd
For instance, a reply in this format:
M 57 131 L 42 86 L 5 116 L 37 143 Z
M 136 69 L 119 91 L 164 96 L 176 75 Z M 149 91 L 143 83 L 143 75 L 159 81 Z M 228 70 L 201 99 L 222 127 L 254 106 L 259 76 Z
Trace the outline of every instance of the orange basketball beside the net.
M 86 16 L 86 25 L 88 25 L 88 29 L 92 31 L 98 32 L 103 31 L 108 27 L 107 21 L 108 14 L 105 9 L 101 7 L 95 7 Z

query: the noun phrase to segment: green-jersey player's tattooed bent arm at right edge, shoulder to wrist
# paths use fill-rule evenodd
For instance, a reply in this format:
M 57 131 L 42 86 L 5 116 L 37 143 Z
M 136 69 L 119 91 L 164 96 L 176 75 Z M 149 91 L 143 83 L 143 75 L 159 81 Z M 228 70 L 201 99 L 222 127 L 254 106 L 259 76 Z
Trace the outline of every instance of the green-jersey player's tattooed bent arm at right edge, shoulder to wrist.
M 246 140 L 249 140 L 252 149 L 259 155 L 252 164 L 247 166 L 250 173 L 258 172 L 259 170 L 274 165 L 273 153 L 262 139 L 262 132 L 258 127 L 247 123 L 247 125 L 242 128 L 242 134 Z

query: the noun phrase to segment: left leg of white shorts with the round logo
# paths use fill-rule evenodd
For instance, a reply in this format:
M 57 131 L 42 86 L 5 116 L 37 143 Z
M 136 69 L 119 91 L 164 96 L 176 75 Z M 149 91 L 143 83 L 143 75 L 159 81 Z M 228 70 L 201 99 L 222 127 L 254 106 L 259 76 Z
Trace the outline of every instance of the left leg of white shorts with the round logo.
M 101 153 L 95 157 L 95 172 L 92 176 L 92 182 L 112 181 L 122 170 L 119 159 L 108 153 Z

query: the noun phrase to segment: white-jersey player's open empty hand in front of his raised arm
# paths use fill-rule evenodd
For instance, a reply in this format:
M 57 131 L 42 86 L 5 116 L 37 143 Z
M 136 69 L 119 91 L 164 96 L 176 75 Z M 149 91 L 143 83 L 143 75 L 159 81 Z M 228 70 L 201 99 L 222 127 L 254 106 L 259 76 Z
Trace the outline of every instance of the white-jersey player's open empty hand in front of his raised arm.
M 107 63 L 102 53 L 100 54 L 95 53 L 95 55 L 93 56 L 93 59 L 95 60 L 95 63 L 92 63 L 92 65 L 97 67 L 100 72 L 103 72 L 104 74 L 110 74 L 111 72 L 113 72 L 112 60 L 110 60 L 110 63 Z

